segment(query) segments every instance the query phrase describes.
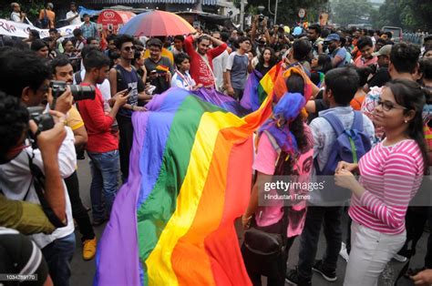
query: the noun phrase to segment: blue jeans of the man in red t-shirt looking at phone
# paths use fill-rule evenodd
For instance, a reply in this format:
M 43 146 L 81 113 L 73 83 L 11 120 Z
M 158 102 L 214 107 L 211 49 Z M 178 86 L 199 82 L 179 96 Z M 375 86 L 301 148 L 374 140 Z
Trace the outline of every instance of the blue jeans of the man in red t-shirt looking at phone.
M 111 213 L 118 190 L 118 150 L 105 153 L 87 152 L 90 158 L 90 199 L 93 220 L 104 220 Z M 105 201 L 105 208 L 102 201 Z

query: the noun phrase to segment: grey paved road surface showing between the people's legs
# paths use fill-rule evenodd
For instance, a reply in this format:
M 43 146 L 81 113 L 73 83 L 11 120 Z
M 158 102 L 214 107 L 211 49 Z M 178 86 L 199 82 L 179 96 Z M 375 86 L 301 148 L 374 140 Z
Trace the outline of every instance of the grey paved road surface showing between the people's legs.
M 90 169 L 88 167 L 87 158 L 86 160 L 80 160 L 78 161 L 78 177 L 79 177 L 79 184 L 80 184 L 80 193 L 81 193 L 81 199 L 83 199 L 84 203 L 87 206 L 91 206 L 90 203 L 90 196 L 89 196 L 89 186 L 91 181 L 91 175 L 90 175 Z M 105 228 L 105 224 L 102 226 L 99 226 L 95 228 L 97 237 L 100 238 L 102 235 L 102 232 Z M 242 240 L 242 230 L 238 226 L 237 230 L 239 230 L 239 243 Z M 93 276 L 95 274 L 95 260 L 91 261 L 84 261 L 81 256 L 82 246 L 81 243 L 79 243 L 79 232 L 76 231 L 77 234 L 77 251 L 75 253 L 74 259 L 72 260 L 72 277 L 70 280 L 71 285 L 79 285 L 79 286 L 87 286 L 91 285 L 93 281 Z M 417 245 L 417 255 L 413 258 L 411 261 L 411 266 L 414 268 L 420 268 L 423 266 L 423 259 L 426 253 L 426 243 L 427 243 L 427 234 L 423 234 L 421 240 L 419 241 Z M 125 248 L 128 247 L 125 245 Z M 290 258 L 288 260 L 288 267 L 293 268 L 296 265 L 296 262 L 298 260 L 298 240 L 295 240 L 292 249 L 290 250 Z M 321 235 L 321 239 L 319 241 L 319 248 L 318 248 L 318 254 L 317 257 L 320 258 L 323 255 L 323 251 L 325 249 L 325 242 L 324 242 L 324 235 Z M 345 274 L 345 266 L 346 262 L 342 258 L 339 258 L 338 260 L 338 268 L 337 268 L 337 277 L 339 278 L 338 281 L 335 282 L 327 282 L 324 281 L 321 277 L 318 275 L 314 275 L 313 278 L 313 284 L 314 285 L 333 285 L 333 286 L 339 286 L 343 285 L 343 278 Z M 392 260 L 386 271 L 383 275 L 384 277 L 381 278 L 379 285 L 380 286 L 390 286 L 393 285 L 392 283 L 392 277 L 394 277 L 400 268 L 403 266 L 403 263 L 397 262 L 395 260 Z M 265 284 L 265 280 L 264 284 Z M 288 283 L 286 283 L 288 285 Z M 402 279 L 398 285 L 412 285 L 412 283 L 406 279 Z M 117 286 L 117 285 L 116 285 Z M 122 285 L 127 286 L 127 285 Z M 129 286 L 129 285 L 128 285 Z

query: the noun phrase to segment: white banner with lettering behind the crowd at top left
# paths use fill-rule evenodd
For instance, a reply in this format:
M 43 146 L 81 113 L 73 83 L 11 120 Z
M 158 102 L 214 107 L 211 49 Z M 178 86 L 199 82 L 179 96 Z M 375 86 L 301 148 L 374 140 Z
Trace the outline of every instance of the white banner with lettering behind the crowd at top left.
M 77 25 L 63 26 L 61 28 L 57 28 L 57 31 L 61 34 L 61 36 L 67 37 L 72 36 L 72 31 L 78 27 L 79 26 Z M 28 31 L 30 29 L 37 30 L 39 32 L 40 38 L 49 36 L 48 29 L 39 29 L 36 26 L 0 19 L 0 35 L 28 37 Z

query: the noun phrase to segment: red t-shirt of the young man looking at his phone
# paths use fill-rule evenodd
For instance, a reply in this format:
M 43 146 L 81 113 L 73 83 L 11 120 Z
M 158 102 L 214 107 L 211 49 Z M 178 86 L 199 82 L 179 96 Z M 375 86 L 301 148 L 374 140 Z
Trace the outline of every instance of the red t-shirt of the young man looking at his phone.
M 81 86 L 89 86 L 81 84 Z M 98 87 L 95 99 L 77 101 L 79 113 L 83 117 L 87 129 L 87 150 L 95 153 L 105 153 L 118 149 L 118 138 L 111 133 L 114 118 L 105 114 L 104 98 Z

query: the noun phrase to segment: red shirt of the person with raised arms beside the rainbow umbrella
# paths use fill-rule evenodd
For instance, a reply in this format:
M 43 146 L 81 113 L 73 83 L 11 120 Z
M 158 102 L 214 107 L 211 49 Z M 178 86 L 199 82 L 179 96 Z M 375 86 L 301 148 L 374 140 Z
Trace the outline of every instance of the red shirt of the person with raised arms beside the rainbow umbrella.
M 214 86 L 214 77 L 213 77 L 213 57 L 221 55 L 223 51 L 227 48 L 227 45 L 224 43 L 221 46 L 217 46 L 215 48 L 207 51 L 207 61 L 209 64 L 205 62 L 205 60 L 193 47 L 193 37 L 188 36 L 184 40 L 184 49 L 186 53 L 190 56 L 190 77 L 192 77 L 196 84 L 202 84 L 204 87 Z M 211 70 L 209 70 L 209 65 L 211 66 Z

